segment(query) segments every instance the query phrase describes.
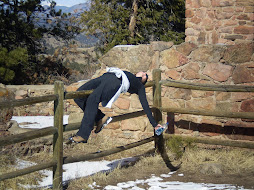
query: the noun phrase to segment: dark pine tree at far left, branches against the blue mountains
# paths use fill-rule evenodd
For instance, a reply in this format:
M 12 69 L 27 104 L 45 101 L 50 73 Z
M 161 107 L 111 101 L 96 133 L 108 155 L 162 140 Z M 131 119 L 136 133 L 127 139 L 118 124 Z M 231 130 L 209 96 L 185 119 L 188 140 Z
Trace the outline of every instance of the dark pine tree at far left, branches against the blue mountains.
M 51 0 L 50 7 L 44 8 L 42 1 L 45 0 L 0 1 L 0 52 L 7 58 L 0 61 L 1 83 L 33 81 L 31 76 L 40 64 L 37 57 L 43 49 L 40 39 L 44 34 L 69 40 L 79 32 L 79 27 L 69 22 L 71 15 L 56 12 L 56 3 Z M 26 59 L 13 59 L 13 54 Z

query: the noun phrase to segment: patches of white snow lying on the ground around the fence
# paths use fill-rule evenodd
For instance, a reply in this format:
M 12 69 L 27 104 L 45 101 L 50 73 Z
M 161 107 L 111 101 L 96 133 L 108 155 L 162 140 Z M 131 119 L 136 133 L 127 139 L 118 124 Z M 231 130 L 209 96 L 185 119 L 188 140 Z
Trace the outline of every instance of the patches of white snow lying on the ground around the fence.
M 16 120 L 20 127 L 23 128 L 44 128 L 53 126 L 53 116 L 14 116 L 12 120 Z M 30 124 L 29 124 L 30 123 Z M 64 116 L 64 124 L 68 123 L 68 116 Z M 76 162 L 63 165 L 63 181 L 93 175 L 97 172 L 110 171 L 116 168 L 119 164 L 127 164 L 133 161 L 135 158 L 125 158 L 122 160 L 113 161 L 86 161 Z M 22 169 L 34 165 L 34 163 L 17 160 L 17 168 Z M 51 187 L 52 186 L 52 174 L 50 170 L 41 171 L 46 177 L 39 182 L 37 187 Z M 247 190 L 243 187 L 238 187 L 230 184 L 209 184 L 209 183 L 193 183 L 193 182 L 179 182 L 170 181 L 172 175 L 178 175 L 184 177 L 182 173 L 170 172 L 167 174 L 161 174 L 160 176 L 151 175 L 149 179 L 137 179 L 136 181 L 127 181 L 118 183 L 116 186 L 108 185 L 104 187 L 104 190 L 145 190 L 140 185 L 146 185 L 148 190 Z M 89 185 L 92 189 L 97 189 L 100 186 L 94 182 Z M 26 186 L 27 189 L 34 188 L 34 186 Z M 101 189 L 101 188 L 100 188 Z

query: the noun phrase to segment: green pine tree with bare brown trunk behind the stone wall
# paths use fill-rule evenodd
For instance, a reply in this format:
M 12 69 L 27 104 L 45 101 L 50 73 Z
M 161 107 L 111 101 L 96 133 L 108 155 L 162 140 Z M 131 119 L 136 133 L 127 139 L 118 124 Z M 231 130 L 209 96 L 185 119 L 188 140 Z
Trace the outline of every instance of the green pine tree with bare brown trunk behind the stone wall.
M 184 0 L 91 0 L 81 15 L 83 31 L 95 35 L 108 51 L 119 44 L 183 42 Z

